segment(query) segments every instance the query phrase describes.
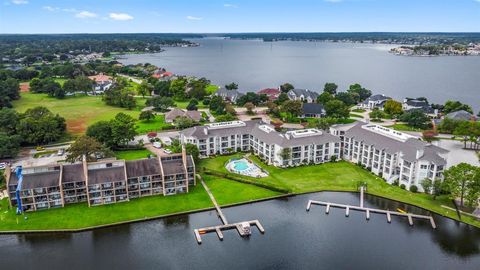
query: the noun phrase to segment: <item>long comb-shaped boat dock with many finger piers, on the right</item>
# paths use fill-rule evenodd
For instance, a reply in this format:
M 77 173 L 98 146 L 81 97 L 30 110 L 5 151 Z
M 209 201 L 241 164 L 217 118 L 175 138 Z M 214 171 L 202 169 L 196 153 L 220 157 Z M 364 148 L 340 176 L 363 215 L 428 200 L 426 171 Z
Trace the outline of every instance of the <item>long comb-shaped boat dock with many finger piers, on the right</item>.
M 363 206 L 363 200 L 364 200 L 364 187 L 360 187 L 360 206 L 309 200 L 307 204 L 307 211 L 310 211 L 310 208 L 312 207 L 312 205 L 324 205 L 326 206 L 325 214 L 328 214 L 330 212 L 331 207 L 335 207 L 335 208 L 345 209 L 346 217 L 350 215 L 350 210 L 355 210 L 355 211 L 365 212 L 367 220 L 370 219 L 370 213 L 385 214 L 387 216 L 388 223 L 392 222 L 392 215 L 393 215 L 393 216 L 406 217 L 408 220 L 408 224 L 410 226 L 413 226 L 413 219 L 416 218 L 416 219 L 429 220 L 432 228 L 433 229 L 437 228 L 437 225 L 435 224 L 435 220 L 433 219 L 432 216 L 402 213 L 399 211 L 390 211 L 390 210 L 383 210 L 383 209 L 376 209 L 376 208 L 368 208 Z

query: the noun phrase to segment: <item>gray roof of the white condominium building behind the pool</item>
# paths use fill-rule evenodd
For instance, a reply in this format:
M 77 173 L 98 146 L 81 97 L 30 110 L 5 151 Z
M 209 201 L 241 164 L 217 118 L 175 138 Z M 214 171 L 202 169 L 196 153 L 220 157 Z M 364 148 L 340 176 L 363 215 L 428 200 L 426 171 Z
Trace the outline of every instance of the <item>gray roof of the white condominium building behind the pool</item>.
M 340 142 L 336 136 L 326 132 L 304 137 L 290 136 L 289 133 L 281 133 L 275 130 L 267 132 L 260 128 L 262 125 L 269 126 L 261 120 L 244 121 L 245 126 L 228 127 L 219 129 L 209 129 L 206 126 L 193 127 L 181 131 L 184 136 L 195 137 L 197 139 L 206 139 L 210 136 L 230 136 L 230 135 L 253 135 L 259 140 L 268 144 L 277 144 L 281 147 L 293 147 L 307 144 L 324 144 L 327 142 Z

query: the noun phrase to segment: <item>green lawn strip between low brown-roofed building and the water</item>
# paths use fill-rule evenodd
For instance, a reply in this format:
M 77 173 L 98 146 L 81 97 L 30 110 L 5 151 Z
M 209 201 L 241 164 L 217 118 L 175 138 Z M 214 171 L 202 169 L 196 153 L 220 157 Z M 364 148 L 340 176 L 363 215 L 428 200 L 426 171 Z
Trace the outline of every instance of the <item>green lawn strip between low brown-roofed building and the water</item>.
M 80 203 L 28 212 L 26 220 L 17 216 L 14 209 L 8 209 L 8 202 L 4 199 L 0 201 L 0 231 L 78 229 L 209 207 L 213 204 L 201 185 L 191 187 L 190 193 L 174 196 L 152 196 L 90 208 L 86 203 Z

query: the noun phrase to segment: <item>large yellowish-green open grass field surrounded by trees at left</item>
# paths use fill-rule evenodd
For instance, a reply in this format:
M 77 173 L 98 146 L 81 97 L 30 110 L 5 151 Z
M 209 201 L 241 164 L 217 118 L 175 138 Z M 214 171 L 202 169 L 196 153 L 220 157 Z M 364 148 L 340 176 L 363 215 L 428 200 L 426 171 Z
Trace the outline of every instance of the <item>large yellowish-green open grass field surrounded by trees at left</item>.
M 138 107 L 134 110 L 108 106 L 100 96 L 75 96 L 56 99 L 46 94 L 21 93 L 21 98 L 13 102 L 13 107 L 18 112 L 44 106 L 50 111 L 60 114 L 67 120 L 67 130 L 72 134 L 82 134 L 87 127 L 95 122 L 110 120 L 117 113 L 123 112 L 138 118 L 140 110 L 144 107 L 145 100 L 137 99 Z

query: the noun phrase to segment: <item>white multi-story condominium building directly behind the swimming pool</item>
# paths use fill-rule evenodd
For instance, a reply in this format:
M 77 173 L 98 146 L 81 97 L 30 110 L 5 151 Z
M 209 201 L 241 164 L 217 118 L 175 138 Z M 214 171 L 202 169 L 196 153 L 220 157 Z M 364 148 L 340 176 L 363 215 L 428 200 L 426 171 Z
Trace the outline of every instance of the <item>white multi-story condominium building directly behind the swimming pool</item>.
M 203 157 L 252 151 L 267 164 L 286 167 L 319 164 L 340 155 L 340 139 L 318 129 L 278 132 L 254 121 L 231 121 L 196 126 L 180 132 L 182 143 L 197 145 Z

